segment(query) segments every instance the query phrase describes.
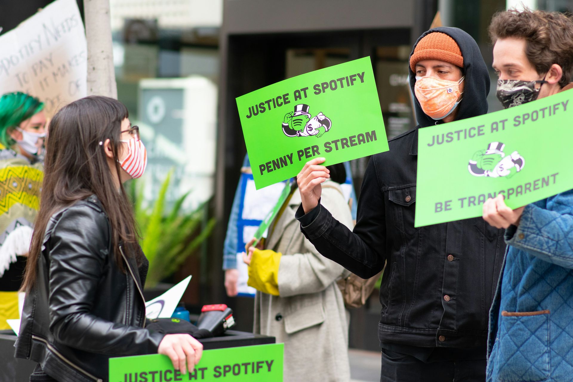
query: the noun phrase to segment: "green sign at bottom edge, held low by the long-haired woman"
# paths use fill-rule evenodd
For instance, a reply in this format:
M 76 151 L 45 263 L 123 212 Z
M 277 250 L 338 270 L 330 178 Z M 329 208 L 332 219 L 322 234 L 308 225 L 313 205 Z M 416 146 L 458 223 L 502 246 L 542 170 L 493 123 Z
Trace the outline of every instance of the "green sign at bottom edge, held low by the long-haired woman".
M 203 352 L 192 373 L 173 369 L 169 357 L 147 356 L 109 359 L 109 382 L 171 381 L 282 381 L 284 344 L 241 346 Z

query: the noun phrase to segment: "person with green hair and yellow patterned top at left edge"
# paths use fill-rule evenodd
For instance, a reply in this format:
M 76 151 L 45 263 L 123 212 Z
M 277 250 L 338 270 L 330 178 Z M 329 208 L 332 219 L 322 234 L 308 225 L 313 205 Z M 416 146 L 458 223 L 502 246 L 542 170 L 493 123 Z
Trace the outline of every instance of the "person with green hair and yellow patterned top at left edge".
M 0 329 L 19 318 L 18 290 L 40 205 L 44 104 L 25 93 L 0 97 Z

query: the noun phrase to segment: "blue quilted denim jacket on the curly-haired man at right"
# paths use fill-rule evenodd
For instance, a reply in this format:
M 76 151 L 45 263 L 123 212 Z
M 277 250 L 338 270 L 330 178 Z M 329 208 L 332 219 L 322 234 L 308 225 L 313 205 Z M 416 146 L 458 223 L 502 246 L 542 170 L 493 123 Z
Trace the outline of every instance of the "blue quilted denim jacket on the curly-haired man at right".
M 487 381 L 573 380 L 573 190 L 529 204 L 490 310 Z

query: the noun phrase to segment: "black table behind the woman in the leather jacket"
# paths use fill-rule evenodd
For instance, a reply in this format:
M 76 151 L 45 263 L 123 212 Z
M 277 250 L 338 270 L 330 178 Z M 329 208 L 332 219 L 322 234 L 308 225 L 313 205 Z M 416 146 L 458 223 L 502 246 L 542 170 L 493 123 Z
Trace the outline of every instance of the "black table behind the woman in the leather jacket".
M 11 330 L 0 330 L 0 382 L 28 382 L 36 363 L 14 358 L 16 336 Z M 237 330 L 227 330 L 221 337 L 201 338 L 203 349 L 274 344 L 275 338 Z

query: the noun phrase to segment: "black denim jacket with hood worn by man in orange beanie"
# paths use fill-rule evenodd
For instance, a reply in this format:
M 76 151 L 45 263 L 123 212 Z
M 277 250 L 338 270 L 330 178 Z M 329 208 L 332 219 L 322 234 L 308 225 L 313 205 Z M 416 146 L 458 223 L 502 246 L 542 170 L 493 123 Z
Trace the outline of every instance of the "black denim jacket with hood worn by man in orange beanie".
M 489 75 L 476 42 L 451 27 L 431 29 L 422 37 L 433 31 L 451 36 L 464 57 L 457 119 L 486 113 Z M 412 90 L 414 82 L 410 71 Z M 378 325 L 383 347 L 483 346 L 485 359 L 488 311 L 505 251 L 503 230 L 481 218 L 414 228 L 418 128 L 436 123 L 417 100 L 415 110 L 418 127 L 390 140 L 390 151 L 371 157 L 354 231 L 320 204 L 306 215 L 301 206 L 296 216 L 321 254 L 360 277 L 372 277 L 386 263 Z

